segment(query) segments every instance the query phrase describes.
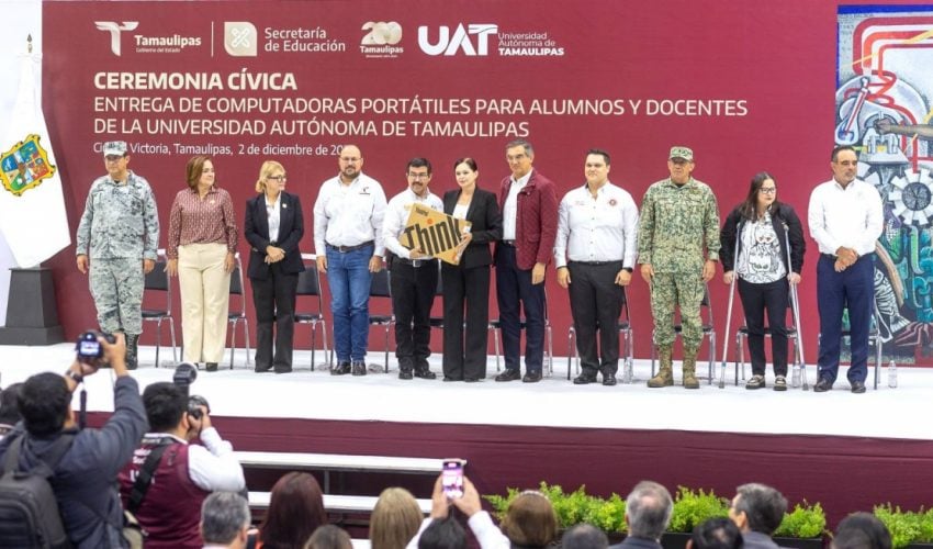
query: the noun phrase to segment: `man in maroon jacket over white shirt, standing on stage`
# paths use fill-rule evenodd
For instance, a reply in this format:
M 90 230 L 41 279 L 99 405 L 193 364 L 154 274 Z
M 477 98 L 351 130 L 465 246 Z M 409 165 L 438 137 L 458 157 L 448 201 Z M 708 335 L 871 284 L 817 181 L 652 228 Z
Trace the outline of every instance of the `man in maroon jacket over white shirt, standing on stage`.
M 512 175 L 499 189 L 503 236 L 496 245 L 496 296 L 506 369 L 496 381 L 535 383 L 541 380 L 544 361 L 544 269 L 558 232 L 558 197 L 554 183 L 531 169 L 535 150 L 530 143 L 510 142 L 505 154 Z M 526 323 L 524 378 L 519 307 Z

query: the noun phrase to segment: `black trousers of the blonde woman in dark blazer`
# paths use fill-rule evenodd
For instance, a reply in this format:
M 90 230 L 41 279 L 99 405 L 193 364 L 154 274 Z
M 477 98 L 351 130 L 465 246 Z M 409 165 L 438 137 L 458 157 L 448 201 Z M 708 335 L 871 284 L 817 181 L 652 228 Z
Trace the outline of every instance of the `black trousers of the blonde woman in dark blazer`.
M 297 273 L 282 272 L 280 264 L 271 264 L 265 280 L 249 279 L 252 304 L 256 307 L 256 369 L 276 368 L 277 372 L 292 370 L 292 347 L 295 332 L 295 289 Z M 272 357 L 272 323 L 276 324 Z

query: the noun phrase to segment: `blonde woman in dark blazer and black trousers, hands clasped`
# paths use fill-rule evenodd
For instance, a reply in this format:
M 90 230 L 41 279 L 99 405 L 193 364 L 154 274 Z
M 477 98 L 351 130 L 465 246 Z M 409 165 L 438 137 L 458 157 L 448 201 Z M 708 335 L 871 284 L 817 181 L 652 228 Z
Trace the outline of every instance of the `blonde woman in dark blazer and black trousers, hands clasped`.
M 256 371 L 274 367 L 276 373 L 292 371 L 295 289 L 304 270 L 299 243 L 304 235 L 301 202 L 284 191 L 285 169 L 274 160 L 262 163 L 258 197 L 246 202 L 246 239 L 249 242 L 247 276 L 256 306 Z M 272 357 L 272 321 L 276 321 L 276 355 Z

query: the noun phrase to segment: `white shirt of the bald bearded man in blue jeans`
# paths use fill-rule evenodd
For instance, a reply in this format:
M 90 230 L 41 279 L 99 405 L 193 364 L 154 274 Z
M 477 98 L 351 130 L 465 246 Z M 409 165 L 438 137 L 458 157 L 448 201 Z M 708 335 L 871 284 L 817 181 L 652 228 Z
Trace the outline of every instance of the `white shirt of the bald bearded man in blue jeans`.
M 385 193 L 375 179 L 360 173 L 350 184 L 340 176 L 324 181 L 314 203 L 314 248 L 318 256 L 325 245 L 357 246 L 374 240 L 374 255 L 382 256 L 382 221 Z

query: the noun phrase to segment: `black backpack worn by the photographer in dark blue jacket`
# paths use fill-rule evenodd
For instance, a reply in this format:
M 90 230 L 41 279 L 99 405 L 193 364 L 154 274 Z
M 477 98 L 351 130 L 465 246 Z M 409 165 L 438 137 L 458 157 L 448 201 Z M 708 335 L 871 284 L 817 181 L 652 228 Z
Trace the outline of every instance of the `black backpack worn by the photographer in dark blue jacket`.
M 46 459 L 31 471 L 20 471 L 20 451 L 27 435 L 7 447 L 0 477 L 0 547 L 67 549 L 72 547 L 65 531 L 58 501 L 48 482 L 61 457 L 71 447 L 74 434 L 58 437 Z

